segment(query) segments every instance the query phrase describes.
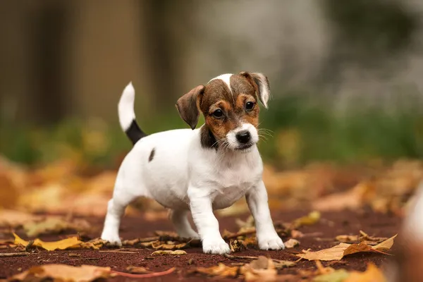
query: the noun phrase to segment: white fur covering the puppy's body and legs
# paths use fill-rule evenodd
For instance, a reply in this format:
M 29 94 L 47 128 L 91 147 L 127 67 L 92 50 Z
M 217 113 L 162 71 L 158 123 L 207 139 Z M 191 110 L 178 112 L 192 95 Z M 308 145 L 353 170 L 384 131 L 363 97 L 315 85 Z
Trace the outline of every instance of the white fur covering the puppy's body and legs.
M 241 128 L 251 130 L 248 124 Z M 118 228 L 125 207 L 137 197 L 149 197 L 172 210 L 170 219 L 181 237 L 200 237 L 206 253 L 227 253 L 230 249 L 219 233 L 213 210 L 230 207 L 246 196 L 259 247 L 284 248 L 271 220 L 257 146 L 247 151 L 204 148 L 200 130 L 168 130 L 143 137 L 134 145 L 118 170 L 102 239 L 121 245 Z M 252 140 L 258 141 L 257 130 Z M 152 149 L 154 158 L 149 161 Z M 188 222 L 188 211 L 198 234 Z

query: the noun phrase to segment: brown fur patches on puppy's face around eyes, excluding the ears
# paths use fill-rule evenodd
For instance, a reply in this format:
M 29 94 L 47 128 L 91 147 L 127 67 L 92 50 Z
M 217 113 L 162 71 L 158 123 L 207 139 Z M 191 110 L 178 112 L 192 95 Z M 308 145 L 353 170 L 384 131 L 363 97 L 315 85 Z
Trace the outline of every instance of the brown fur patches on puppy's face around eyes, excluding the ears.
M 257 85 L 243 75 L 232 75 L 229 82 L 230 85 L 221 79 L 210 81 L 200 103 L 206 126 L 218 142 L 241 123 L 251 123 L 256 128 L 259 124 Z M 219 110 L 223 112 L 220 117 L 214 115 Z

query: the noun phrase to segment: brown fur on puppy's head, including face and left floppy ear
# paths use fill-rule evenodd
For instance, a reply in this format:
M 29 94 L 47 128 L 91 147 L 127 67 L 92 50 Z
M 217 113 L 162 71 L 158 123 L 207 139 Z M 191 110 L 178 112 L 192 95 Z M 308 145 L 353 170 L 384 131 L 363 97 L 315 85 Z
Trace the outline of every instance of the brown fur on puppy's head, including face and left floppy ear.
M 216 79 L 205 87 L 195 87 L 193 90 L 178 99 L 176 107 L 183 120 L 191 128 L 197 125 L 200 112 L 204 114 L 205 126 L 202 129 L 202 145 L 216 146 L 219 140 L 226 138 L 229 131 L 240 126 L 241 123 L 251 123 L 256 128 L 259 125 L 259 105 L 257 93 L 259 87 L 249 73 L 232 75 L 231 89 L 225 82 Z M 245 109 L 247 102 L 255 103 L 252 110 Z M 213 116 L 216 109 L 223 111 L 221 118 Z M 217 142 L 216 142 L 217 141 Z

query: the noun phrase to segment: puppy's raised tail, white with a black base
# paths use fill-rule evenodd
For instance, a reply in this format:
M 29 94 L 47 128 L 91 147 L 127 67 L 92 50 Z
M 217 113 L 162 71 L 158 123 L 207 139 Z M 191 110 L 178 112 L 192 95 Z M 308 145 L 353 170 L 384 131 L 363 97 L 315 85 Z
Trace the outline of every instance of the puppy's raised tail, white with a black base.
M 119 123 L 121 123 L 122 130 L 126 133 L 126 136 L 133 142 L 133 145 L 140 140 L 142 137 L 147 136 L 140 129 L 135 121 L 134 113 L 134 101 L 135 101 L 135 90 L 132 82 L 126 85 L 122 92 L 121 99 L 118 104 Z

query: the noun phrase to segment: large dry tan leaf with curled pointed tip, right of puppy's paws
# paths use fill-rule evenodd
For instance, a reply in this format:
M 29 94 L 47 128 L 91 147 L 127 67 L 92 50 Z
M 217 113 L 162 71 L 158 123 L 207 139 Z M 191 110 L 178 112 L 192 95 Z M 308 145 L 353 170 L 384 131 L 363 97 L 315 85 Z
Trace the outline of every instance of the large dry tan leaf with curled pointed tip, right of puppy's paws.
M 297 255 L 303 259 L 308 260 L 340 260 L 345 255 L 355 254 L 357 252 L 381 252 L 382 250 L 388 250 L 393 245 L 393 239 L 396 238 L 397 235 L 394 235 L 391 238 L 388 238 L 384 242 L 380 243 L 376 246 L 369 246 L 366 243 L 360 244 L 346 244 L 340 243 L 334 247 L 330 247 L 329 249 L 319 250 L 317 252 L 305 252 L 304 254 Z

